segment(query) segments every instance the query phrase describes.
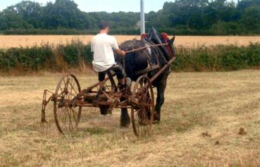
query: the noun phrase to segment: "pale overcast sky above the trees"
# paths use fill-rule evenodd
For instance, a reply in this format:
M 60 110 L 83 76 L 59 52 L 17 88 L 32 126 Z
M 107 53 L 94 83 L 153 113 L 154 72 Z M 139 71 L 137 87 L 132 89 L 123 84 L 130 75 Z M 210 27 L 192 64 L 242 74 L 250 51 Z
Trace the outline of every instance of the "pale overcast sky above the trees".
M 0 10 L 2 11 L 7 6 L 11 6 L 19 3 L 22 0 L 0 0 Z M 45 5 L 48 1 L 54 2 L 55 0 L 34 0 L 40 4 Z M 81 11 L 106 11 L 106 12 L 118 12 L 118 11 L 140 11 L 140 0 L 74 0 L 78 4 L 78 8 Z M 145 12 L 159 11 L 163 8 L 163 4 L 166 1 L 173 0 L 144 0 Z

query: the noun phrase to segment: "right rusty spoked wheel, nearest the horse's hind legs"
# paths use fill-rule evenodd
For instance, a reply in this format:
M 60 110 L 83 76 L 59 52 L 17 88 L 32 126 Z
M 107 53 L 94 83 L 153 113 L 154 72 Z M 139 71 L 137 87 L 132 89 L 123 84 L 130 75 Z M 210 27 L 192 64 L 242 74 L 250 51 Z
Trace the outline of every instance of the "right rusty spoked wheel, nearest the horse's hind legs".
M 146 76 L 140 76 L 135 82 L 132 101 L 131 121 L 135 135 L 150 135 L 154 120 L 154 91 Z

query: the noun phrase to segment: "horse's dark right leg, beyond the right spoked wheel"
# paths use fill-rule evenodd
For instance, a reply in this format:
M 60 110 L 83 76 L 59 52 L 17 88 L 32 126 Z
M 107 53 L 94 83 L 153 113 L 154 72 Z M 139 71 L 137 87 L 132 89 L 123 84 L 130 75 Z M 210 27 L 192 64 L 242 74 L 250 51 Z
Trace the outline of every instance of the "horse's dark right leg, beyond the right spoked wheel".
M 164 92 L 167 85 L 167 78 L 168 78 L 168 74 L 163 75 L 163 77 L 159 82 L 159 85 L 156 87 L 157 97 L 156 97 L 156 105 L 155 105 L 155 111 L 156 111 L 155 120 L 157 121 L 161 120 L 161 106 L 164 103 Z

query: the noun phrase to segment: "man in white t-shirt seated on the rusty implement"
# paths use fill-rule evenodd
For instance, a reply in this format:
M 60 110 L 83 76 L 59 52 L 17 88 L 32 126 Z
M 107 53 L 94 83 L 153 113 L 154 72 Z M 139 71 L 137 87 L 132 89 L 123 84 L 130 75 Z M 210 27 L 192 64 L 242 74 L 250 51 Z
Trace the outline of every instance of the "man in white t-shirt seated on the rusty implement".
M 118 78 L 118 85 L 120 87 L 125 86 L 125 76 L 123 74 L 123 68 L 116 63 L 113 49 L 117 54 L 125 56 L 125 51 L 122 51 L 118 47 L 116 38 L 108 35 L 109 24 L 107 22 L 101 22 L 99 25 L 99 34 L 95 35 L 91 40 L 91 50 L 94 52 L 94 61 L 92 65 L 95 71 L 99 74 L 99 86 L 103 87 L 103 81 L 106 77 L 107 70 L 113 70 Z

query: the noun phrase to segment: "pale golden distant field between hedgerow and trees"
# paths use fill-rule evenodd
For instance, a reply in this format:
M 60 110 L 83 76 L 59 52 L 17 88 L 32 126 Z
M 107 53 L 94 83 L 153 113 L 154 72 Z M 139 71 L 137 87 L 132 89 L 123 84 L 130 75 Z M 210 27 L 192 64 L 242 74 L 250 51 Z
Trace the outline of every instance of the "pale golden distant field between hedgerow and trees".
M 9 47 L 30 47 L 40 44 L 66 44 L 72 40 L 80 40 L 85 44 L 89 43 L 92 35 L 0 35 L 0 48 Z M 130 39 L 139 39 L 137 35 L 116 35 L 118 43 Z M 247 46 L 250 42 L 260 42 L 260 36 L 257 37 L 202 37 L 202 36 L 177 36 L 175 39 L 176 47 L 198 47 L 211 46 L 216 44 L 235 44 L 237 46 Z

